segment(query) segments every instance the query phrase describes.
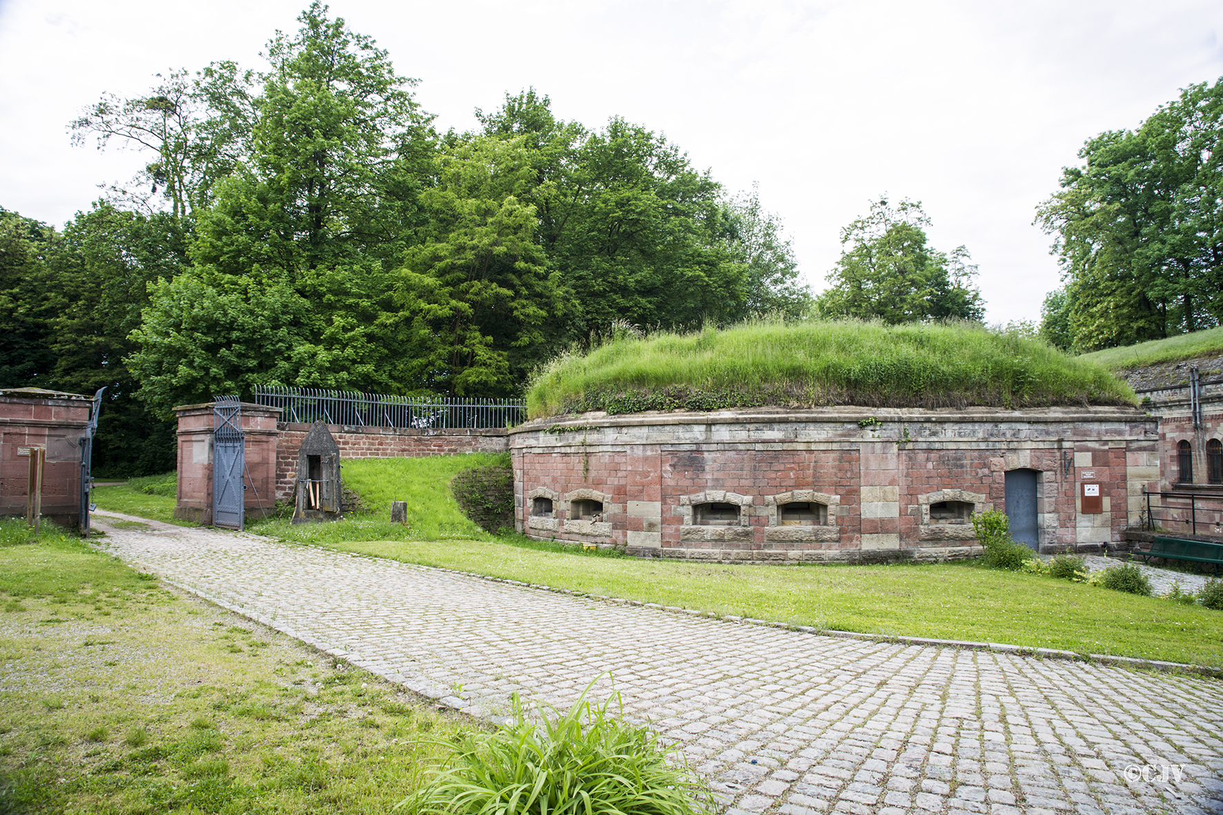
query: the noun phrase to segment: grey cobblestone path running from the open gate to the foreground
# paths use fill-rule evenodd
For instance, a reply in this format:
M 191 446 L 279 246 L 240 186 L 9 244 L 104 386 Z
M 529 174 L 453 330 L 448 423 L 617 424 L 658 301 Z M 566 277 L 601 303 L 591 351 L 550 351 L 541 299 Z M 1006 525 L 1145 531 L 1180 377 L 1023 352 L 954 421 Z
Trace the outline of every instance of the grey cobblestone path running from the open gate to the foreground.
M 394 682 L 504 712 L 604 672 L 733 814 L 1223 813 L 1223 682 L 833 639 L 253 535 L 150 523 L 106 547 Z M 596 698 L 610 689 L 596 685 Z

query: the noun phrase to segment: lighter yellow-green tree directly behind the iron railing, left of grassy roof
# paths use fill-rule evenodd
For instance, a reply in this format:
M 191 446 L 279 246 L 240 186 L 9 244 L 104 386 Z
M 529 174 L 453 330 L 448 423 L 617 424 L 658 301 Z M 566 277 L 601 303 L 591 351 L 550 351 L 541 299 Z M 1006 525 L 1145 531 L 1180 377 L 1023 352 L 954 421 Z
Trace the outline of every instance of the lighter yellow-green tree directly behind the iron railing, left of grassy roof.
M 543 361 L 561 312 L 558 278 L 519 196 L 537 177 L 523 138 L 477 137 L 439 160 L 423 244 L 408 252 L 397 300 L 408 317 L 411 381 L 454 394 L 508 395 Z

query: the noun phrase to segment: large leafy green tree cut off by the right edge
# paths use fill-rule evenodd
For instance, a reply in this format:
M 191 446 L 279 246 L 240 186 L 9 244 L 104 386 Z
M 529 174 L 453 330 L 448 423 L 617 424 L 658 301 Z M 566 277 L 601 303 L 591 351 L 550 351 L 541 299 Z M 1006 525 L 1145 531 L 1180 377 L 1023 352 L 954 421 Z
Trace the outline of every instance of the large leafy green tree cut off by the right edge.
M 1037 210 L 1064 280 L 1046 300 L 1047 339 L 1088 351 L 1219 324 L 1221 135 L 1223 80 L 1087 140 Z

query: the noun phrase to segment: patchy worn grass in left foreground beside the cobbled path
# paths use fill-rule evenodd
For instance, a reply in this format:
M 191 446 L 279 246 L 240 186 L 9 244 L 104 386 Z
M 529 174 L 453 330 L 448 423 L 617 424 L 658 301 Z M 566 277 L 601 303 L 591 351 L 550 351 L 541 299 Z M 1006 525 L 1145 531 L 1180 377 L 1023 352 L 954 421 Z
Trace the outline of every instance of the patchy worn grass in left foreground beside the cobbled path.
M 57 532 L 0 607 L 0 813 L 382 814 L 472 727 Z

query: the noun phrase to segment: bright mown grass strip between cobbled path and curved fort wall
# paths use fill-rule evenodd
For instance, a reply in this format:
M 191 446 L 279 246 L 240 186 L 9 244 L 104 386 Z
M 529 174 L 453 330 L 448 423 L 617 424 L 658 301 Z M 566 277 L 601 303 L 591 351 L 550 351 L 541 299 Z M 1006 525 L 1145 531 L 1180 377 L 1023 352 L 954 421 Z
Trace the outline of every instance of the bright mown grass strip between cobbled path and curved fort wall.
M 511 542 L 364 541 L 345 552 L 826 630 L 1008 642 L 1223 667 L 1223 614 L 972 563 L 720 565 Z

